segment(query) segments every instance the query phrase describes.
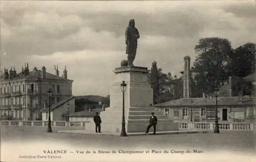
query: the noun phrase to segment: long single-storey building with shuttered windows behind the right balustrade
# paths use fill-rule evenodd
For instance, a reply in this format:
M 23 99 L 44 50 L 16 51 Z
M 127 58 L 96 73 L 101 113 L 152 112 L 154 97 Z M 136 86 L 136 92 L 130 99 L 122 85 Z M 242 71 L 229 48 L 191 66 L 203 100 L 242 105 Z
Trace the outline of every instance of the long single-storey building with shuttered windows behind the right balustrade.
M 155 105 L 174 122 L 214 122 L 216 106 L 220 122 L 256 122 L 255 98 L 180 98 Z

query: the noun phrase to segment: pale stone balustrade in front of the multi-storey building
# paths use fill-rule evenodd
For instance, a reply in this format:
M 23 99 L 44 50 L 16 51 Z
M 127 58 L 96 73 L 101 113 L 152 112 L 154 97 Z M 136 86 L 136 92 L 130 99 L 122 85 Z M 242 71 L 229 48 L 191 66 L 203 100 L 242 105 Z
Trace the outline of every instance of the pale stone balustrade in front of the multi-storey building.
M 74 127 L 85 127 L 87 121 L 51 121 L 52 126 L 63 127 L 63 126 L 74 126 Z M 48 121 L 1 121 L 1 126 L 48 126 Z

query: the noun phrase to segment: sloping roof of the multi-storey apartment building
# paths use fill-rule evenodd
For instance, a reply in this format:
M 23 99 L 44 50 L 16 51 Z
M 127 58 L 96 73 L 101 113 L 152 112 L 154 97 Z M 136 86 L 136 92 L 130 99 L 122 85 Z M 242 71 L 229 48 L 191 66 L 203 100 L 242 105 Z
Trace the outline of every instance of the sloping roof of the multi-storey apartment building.
M 33 70 L 33 71 L 29 72 L 29 75 L 25 76 L 25 74 L 20 72 L 20 73 L 18 73 L 16 75 L 16 77 L 12 78 L 11 81 L 12 80 L 20 80 L 20 79 L 37 79 L 37 78 L 41 78 L 41 73 L 42 73 L 41 70 Z M 67 80 L 67 79 L 65 79 L 63 77 L 51 74 L 49 72 L 46 72 L 46 78 L 47 79 L 57 79 L 57 80 Z M 0 79 L 3 80 L 3 81 L 4 80 L 7 80 L 7 81 L 9 80 L 9 78 L 4 79 L 3 76 Z

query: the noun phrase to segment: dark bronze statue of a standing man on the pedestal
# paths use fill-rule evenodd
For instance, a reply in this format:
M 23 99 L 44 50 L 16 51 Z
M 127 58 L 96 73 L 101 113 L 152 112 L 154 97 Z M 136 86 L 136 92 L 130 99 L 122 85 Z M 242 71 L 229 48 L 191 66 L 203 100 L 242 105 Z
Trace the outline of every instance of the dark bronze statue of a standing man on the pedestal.
M 128 66 L 134 66 L 133 61 L 135 60 L 137 51 L 137 39 L 140 38 L 139 31 L 135 28 L 135 21 L 131 19 L 129 26 L 125 30 L 125 44 L 126 44 L 126 54 L 128 60 Z

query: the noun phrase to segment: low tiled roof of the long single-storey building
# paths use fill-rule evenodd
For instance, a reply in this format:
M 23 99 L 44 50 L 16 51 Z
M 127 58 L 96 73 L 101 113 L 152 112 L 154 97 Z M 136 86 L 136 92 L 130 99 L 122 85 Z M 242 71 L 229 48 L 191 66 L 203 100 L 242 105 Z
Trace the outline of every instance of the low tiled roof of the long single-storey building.
M 191 103 L 191 100 L 193 103 Z M 243 101 L 243 102 L 242 102 Z M 218 97 L 218 105 L 244 105 L 255 104 L 254 97 Z M 216 105 L 216 98 L 180 98 L 168 102 L 155 104 L 156 107 L 172 107 L 172 106 L 209 106 Z

